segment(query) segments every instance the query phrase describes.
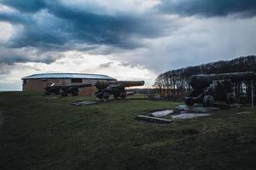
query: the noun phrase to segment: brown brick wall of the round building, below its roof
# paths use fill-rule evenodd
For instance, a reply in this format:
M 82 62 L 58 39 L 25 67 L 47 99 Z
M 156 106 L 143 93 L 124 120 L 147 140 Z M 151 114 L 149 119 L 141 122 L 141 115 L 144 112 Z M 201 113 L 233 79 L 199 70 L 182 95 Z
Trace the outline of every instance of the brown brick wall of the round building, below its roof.
M 52 83 L 55 83 L 55 85 L 58 86 L 58 85 L 68 85 L 68 84 L 71 84 L 72 82 L 71 82 L 71 79 L 27 79 L 26 81 L 23 81 L 22 90 L 44 93 L 44 88 L 49 87 Z M 95 84 L 96 80 L 83 79 L 82 83 Z M 72 84 L 81 84 L 81 83 L 73 82 Z M 93 96 L 95 95 L 95 93 L 96 93 L 95 86 L 79 88 L 79 95 L 81 96 Z

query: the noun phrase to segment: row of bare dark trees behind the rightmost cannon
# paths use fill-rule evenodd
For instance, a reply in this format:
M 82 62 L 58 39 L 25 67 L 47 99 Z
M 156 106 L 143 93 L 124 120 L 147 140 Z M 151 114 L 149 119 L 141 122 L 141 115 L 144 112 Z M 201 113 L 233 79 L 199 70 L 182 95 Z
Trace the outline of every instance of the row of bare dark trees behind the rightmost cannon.
M 232 60 L 220 60 L 203 65 L 189 66 L 161 73 L 154 82 L 160 94 L 172 95 L 180 91 L 189 92 L 189 77 L 199 74 L 219 74 L 230 72 L 256 72 L 256 55 L 242 56 Z M 249 84 L 247 84 L 249 86 Z M 164 93 L 163 93 L 164 92 Z

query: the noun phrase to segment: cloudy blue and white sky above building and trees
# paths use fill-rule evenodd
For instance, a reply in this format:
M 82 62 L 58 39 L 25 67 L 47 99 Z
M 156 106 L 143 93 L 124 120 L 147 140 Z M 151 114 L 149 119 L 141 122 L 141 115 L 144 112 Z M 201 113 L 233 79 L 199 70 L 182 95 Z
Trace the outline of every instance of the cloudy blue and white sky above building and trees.
M 149 86 L 164 71 L 251 54 L 255 0 L 0 0 L 0 91 L 42 72 Z

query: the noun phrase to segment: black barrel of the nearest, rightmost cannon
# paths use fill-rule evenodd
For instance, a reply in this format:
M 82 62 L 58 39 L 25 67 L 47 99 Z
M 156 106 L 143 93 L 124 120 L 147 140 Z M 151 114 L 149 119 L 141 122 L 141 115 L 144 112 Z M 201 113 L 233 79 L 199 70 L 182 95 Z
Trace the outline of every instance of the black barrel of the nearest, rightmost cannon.
M 207 88 L 214 80 L 231 80 L 232 82 L 256 80 L 256 73 L 253 71 L 247 71 L 210 75 L 194 75 L 190 77 L 189 84 L 194 89 L 201 89 Z

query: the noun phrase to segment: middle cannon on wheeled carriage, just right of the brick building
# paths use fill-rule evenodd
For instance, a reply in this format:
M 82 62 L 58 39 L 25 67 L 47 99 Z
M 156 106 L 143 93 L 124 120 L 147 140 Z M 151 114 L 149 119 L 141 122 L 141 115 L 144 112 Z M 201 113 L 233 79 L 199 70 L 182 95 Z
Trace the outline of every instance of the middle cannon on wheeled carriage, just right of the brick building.
M 144 81 L 98 81 L 96 82 L 96 97 L 98 99 L 108 99 L 113 95 L 115 99 L 119 97 L 125 99 L 127 93 L 126 87 L 143 86 Z

